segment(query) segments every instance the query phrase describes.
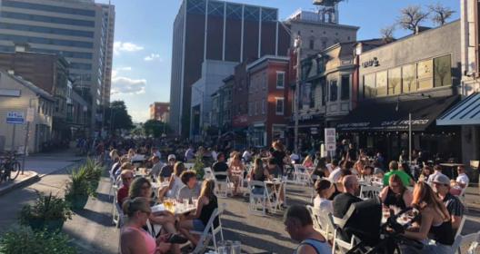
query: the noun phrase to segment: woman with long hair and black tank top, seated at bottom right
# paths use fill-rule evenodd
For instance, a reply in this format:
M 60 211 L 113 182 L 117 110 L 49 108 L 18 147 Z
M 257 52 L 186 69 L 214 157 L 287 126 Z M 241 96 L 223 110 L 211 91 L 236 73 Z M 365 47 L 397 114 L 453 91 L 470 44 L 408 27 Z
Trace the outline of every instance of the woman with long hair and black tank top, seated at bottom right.
M 405 237 L 424 243 L 422 253 L 452 253 L 455 232 L 452 229 L 450 214 L 442 200 L 425 181 L 415 184 L 412 206 L 420 211 L 419 227 L 405 231 Z M 434 241 L 432 241 L 435 240 Z M 405 247 L 408 252 L 409 247 Z

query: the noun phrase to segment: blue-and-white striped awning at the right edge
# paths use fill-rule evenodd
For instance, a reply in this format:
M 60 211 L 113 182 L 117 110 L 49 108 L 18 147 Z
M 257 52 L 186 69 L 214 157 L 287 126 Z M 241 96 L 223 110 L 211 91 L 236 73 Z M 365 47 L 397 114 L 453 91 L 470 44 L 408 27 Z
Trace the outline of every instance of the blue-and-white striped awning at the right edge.
M 436 120 L 437 125 L 480 125 L 480 93 L 473 93 Z

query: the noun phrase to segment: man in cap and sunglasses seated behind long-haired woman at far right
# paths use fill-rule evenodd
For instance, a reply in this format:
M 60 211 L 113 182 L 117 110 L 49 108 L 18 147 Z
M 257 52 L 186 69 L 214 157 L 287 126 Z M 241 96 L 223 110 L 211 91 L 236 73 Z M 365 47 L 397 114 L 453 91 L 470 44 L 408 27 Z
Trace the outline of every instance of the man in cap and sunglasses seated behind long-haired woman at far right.
M 432 185 L 452 217 L 452 229 L 457 230 L 462 216 L 464 216 L 464 205 L 458 198 L 450 194 L 450 180 L 444 174 L 437 174 L 432 180 Z

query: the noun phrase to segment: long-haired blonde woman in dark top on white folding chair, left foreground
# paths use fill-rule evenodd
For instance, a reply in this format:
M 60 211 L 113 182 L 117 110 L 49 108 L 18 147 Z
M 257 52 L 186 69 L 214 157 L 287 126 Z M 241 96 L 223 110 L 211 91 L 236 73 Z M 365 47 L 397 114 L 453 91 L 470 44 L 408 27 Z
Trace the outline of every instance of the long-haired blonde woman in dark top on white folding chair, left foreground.
M 180 232 L 194 245 L 198 243 L 198 239 L 190 233 L 190 230 L 204 231 L 208 220 L 212 217 L 215 209 L 218 209 L 218 201 L 216 200 L 214 190 L 215 181 L 205 180 L 202 184 L 202 190 L 200 190 L 195 214 L 186 216 L 186 220 L 182 220 L 179 223 Z M 217 226 L 218 218 L 214 220 L 214 227 L 216 228 Z

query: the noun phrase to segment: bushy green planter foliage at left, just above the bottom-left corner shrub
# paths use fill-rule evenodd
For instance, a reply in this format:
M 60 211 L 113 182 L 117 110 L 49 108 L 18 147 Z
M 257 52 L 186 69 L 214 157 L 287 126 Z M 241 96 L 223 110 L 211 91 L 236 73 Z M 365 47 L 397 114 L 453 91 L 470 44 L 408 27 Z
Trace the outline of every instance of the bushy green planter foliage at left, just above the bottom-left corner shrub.
M 28 225 L 29 220 L 72 220 L 69 204 L 52 195 L 38 193 L 34 205 L 25 205 L 20 211 L 20 223 Z

